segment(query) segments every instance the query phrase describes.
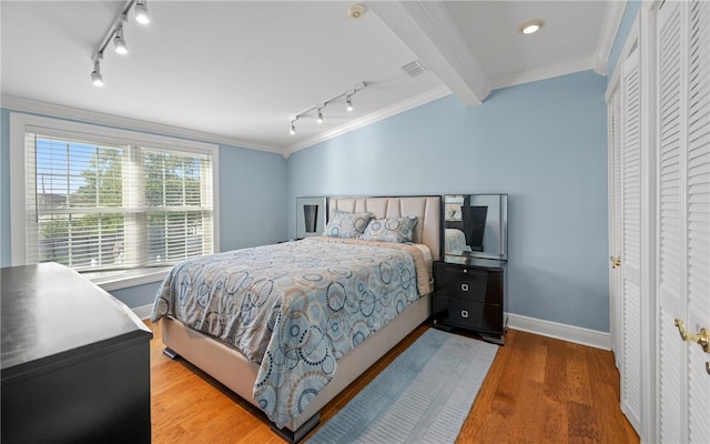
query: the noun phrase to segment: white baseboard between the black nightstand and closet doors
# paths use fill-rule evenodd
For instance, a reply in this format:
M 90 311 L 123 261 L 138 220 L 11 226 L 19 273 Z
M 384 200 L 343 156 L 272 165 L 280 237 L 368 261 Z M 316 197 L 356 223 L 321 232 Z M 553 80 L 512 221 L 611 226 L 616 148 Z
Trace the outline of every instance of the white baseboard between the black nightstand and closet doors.
M 588 345 L 595 349 L 611 350 L 611 334 L 607 332 L 513 313 L 505 313 L 505 317 L 508 321 L 509 329 Z

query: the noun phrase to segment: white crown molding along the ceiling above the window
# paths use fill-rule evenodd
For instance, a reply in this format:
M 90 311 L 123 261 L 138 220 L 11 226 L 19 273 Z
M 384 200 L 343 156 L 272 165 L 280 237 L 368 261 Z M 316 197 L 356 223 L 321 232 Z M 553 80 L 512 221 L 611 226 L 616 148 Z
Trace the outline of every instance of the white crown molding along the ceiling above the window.
M 211 142 L 222 145 L 283 154 L 283 150 L 277 147 L 268 147 L 251 141 L 211 134 L 203 131 L 189 130 L 185 128 L 172 127 L 162 123 L 146 122 L 144 120 L 138 119 L 122 118 L 118 115 L 89 111 L 81 108 L 65 107 L 17 95 L 2 94 L 0 98 L 0 103 L 2 108 L 12 111 L 41 114 L 60 119 L 70 119 L 87 123 L 102 124 L 106 127 L 142 131 L 154 134 L 172 135 L 200 142 Z

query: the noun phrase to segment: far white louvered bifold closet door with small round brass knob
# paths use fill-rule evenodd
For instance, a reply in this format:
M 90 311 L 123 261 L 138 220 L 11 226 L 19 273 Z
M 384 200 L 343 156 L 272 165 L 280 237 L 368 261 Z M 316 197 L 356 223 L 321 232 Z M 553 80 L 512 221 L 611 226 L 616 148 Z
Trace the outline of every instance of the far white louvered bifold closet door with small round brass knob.
M 643 307 L 641 271 L 645 250 L 643 220 L 649 193 L 642 188 L 648 153 L 642 150 L 641 72 L 636 32 L 625 47 L 608 102 L 609 119 L 609 274 L 611 341 L 620 375 L 621 411 L 643 435 L 643 406 L 649 403 L 648 366 L 643 365 Z M 646 215 L 646 216 L 645 216 Z M 646 261 L 648 262 L 648 261 Z

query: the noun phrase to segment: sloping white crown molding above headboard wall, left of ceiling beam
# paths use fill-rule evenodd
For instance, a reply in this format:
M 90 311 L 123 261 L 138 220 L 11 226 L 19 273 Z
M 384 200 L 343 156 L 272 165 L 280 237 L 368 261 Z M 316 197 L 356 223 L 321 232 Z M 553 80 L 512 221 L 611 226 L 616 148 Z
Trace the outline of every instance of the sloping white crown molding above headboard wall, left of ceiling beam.
M 413 108 L 417 108 L 425 103 L 449 95 L 450 93 L 452 93 L 452 90 L 449 90 L 448 87 L 446 85 L 442 85 L 433 90 L 426 91 L 419 95 L 402 101 L 392 107 L 382 109 L 377 112 L 373 112 L 361 119 L 354 120 L 347 124 L 341 125 L 338 128 L 334 128 L 332 130 L 322 132 L 308 139 L 298 141 L 297 143 L 294 143 L 286 149 L 284 157 L 288 158 L 291 154 L 293 154 L 296 151 L 304 150 L 306 148 L 315 145 L 316 143 L 325 142 L 326 140 L 334 139 L 338 135 L 343 135 L 347 132 L 361 129 L 363 127 L 367 127 L 368 124 L 399 114 Z

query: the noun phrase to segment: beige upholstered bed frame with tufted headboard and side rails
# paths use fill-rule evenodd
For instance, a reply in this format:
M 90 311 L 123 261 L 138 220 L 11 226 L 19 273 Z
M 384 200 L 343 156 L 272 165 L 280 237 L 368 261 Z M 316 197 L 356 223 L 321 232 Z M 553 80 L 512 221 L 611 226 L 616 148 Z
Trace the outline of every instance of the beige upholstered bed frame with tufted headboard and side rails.
M 328 212 L 369 211 L 377 218 L 416 215 L 417 224 L 413 241 L 426 244 L 433 260 L 438 260 L 440 251 L 442 199 L 435 196 L 388 196 L 388 198 L 329 198 Z M 430 295 L 427 294 L 409 305 L 400 315 L 392 320 L 377 333 L 365 340 L 338 361 L 338 367 L 331 383 L 313 400 L 306 411 L 284 428 L 272 424 L 274 432 L 291 442 L 301 441 L 320 422 L 320 411 L 347 385 L 363 374 L 372 364 L 387 353 L 414 329 L 432 314 Z M 164 317 L 162 336 L 165 354 L 184 357 L 244 400 L 256 407 L 253 398 L 254 382 L 258 365 L 248 362 L 239 351 L 203 333 L 192 330 L 182 322 Z

